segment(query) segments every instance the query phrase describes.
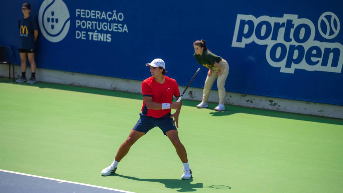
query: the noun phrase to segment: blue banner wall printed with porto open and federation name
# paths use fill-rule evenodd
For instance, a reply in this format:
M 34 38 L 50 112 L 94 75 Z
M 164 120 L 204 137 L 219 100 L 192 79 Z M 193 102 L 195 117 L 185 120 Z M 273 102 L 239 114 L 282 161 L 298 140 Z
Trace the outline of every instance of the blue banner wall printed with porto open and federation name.
M 0 8 L 0 44 L 18 53 L 23 2 Z M 199 66 L 193 42 L 229 63 L 226 91 L 343 105 L 342 1 L 32 0 L 38 68 L 123 79 L 166 75 L 187 85 Z M 202 88 L 208 69 L 192 86 Z M 214 85 L 216 89 L 216 85 Z

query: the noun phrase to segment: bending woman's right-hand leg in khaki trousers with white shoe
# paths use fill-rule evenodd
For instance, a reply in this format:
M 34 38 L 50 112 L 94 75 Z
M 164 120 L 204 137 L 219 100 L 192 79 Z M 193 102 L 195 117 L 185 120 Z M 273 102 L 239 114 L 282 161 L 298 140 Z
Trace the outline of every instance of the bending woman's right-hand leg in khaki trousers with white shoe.
M 224 59 L 222 59 L 219 62 L 219 65 L 222 66 L 224 71 L 223 71 L 222 75 L 219 76 L 218 79 L 217 79 L 219 104 L 218 104 L 217 107 L 214 108 L 214 110 L 223 111 L 223 110 L 225 110 L 225 105 L 224 105 L 225 104 L 225 94 L 226 94 L 226 91 L 225 91 L 225 81 L 226 81 L 226 78 L 227 78 L 227 76 L 229 74 L 229 65 L 226 62 L 226 60 L 224 60 Z

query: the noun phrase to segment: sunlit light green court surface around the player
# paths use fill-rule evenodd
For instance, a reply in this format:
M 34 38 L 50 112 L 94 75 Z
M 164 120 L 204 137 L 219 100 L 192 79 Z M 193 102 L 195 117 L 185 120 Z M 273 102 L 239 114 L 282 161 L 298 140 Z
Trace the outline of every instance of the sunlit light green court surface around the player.
M 0 169 L 140 193 L 343 190 L 343 120 L 235 106 L 215 112 L 216 104 L 197 109 L 190 100 L 178 131 L 193 179 L 180 180 L 182 163 L 158 128 L 132 146 L 115 175 L 102 177 L 142 98 L 0 79 Z

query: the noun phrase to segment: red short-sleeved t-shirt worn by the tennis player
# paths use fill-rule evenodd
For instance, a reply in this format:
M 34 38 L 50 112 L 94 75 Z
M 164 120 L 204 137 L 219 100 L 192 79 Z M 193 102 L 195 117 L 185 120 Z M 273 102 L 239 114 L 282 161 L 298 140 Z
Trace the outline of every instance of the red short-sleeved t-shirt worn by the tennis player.
M 180 97 L 179 87 L 174 79 L 164 76 L 165 81 L 160 84 L 155 81 L 154 77 L 149 77 L 142 82 L 142 94 L 144 96 L 151 96 L 152 101 L 158 103 L 173 103 L 173 95 L 175 97 Z M 146 116 L 160 118 L 168 113 L 170 109 L 154 110 L 148 109 L 143 100 L 142 113 Z

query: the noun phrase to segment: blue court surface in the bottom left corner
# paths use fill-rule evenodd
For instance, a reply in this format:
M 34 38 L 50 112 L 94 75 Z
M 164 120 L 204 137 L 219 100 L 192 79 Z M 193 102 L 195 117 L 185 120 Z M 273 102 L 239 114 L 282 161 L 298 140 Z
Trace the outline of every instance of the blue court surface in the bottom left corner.
M 7 170 L 0 170 L 0 192 L 1 193 L 131 193 L 128 191 L 116 190 L 101 186 L 94 186 L 90 184 L 83 184 L 71 181 L 64 181 L 53 178 L 45 178 L 24 174 L 19 172 L 12 172 Z

